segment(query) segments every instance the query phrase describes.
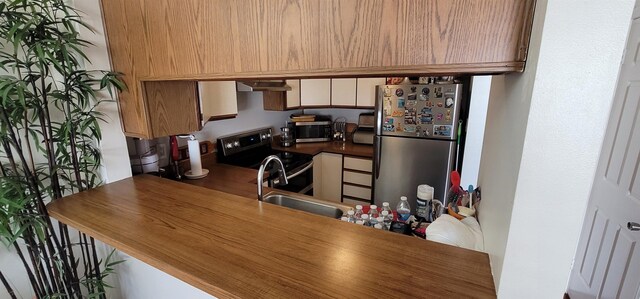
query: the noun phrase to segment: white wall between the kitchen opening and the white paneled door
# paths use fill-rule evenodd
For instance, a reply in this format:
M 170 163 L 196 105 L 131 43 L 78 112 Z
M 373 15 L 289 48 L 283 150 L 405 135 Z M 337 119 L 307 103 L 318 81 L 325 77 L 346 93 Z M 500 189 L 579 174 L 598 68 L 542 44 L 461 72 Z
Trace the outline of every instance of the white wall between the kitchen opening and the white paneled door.
M 527 70 L 494 78 L 481 165 L 501 298 L 566 290 L 633 1 L 537 5 Z

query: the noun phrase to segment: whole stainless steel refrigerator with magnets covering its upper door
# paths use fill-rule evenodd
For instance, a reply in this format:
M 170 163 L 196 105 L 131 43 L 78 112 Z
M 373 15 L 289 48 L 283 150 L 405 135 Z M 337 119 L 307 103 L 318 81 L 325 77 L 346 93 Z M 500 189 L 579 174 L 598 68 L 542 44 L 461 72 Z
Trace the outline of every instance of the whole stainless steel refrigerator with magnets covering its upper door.
M 455 169 L 462 84 L 380 85 L 374 138 L 374 202 L 392 209 L 420 184 L 444 202 Z

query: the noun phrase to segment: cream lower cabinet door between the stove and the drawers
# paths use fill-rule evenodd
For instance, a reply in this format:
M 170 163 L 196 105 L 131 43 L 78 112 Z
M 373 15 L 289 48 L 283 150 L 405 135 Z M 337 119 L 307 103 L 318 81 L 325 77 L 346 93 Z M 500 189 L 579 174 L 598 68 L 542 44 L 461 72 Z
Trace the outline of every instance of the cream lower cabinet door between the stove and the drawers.
M 342 155 L 320 153 L 313 157 L 313 197 L 340 202 Z

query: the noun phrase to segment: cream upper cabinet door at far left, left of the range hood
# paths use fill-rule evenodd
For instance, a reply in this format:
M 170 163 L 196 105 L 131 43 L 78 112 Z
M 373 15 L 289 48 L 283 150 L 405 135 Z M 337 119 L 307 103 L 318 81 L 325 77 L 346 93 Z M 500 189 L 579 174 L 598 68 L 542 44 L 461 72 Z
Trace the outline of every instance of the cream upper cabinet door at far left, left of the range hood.
M 235 117 L 238 114 L 238 95 L 235 81 L 198 82 L 202 120 Z

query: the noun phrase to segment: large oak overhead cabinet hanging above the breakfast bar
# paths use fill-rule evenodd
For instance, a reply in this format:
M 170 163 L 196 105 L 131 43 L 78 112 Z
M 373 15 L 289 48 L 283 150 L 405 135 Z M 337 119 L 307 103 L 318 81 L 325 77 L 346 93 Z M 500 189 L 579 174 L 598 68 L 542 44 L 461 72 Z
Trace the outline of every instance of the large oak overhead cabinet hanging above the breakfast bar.
M 128 86 L 118 97 L 125 134 L 153 135 L 145 81 L 521 72 L 535 6 L 535 0 L 260 3 L 101 1 L 112 69 Z M 309 100 L 330 105 L 327 98 Z

